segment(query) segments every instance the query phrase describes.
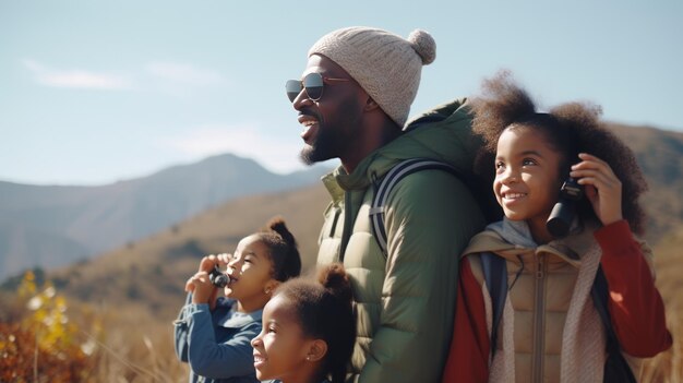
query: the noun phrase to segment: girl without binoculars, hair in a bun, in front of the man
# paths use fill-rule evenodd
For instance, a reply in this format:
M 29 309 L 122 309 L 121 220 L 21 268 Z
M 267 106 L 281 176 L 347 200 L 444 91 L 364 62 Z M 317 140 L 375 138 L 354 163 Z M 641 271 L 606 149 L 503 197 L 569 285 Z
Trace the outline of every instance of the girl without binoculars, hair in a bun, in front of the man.
M 351 287 L 340 264 L 322 268 L 317 282 L 289 280 L 263 309 L 263 330 L 251 342 L 256 378 L 343 383 L 355 338 Z

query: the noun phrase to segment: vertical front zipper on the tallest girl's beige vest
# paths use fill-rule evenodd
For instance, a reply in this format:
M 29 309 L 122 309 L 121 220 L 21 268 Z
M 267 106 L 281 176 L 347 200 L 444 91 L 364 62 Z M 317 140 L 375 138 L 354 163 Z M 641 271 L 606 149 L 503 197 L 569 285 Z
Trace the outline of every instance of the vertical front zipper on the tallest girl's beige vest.
M 543 381 L 543 355 L 546 348 L 546 263 L 539 255 L 536 262 L 534 289 L 534 370 L 531 382 Z

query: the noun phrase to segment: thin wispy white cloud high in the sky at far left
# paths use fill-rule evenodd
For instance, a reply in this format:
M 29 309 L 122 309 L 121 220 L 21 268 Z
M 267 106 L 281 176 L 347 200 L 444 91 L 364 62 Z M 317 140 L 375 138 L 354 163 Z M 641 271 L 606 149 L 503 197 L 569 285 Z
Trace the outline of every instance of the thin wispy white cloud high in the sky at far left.
M 23 63 L 33 72 L 36 81 L 46 86 L 109 91 L 132 87 L 123 75 L 85 70 L 56 70 L 29 59 L 23 60 Z

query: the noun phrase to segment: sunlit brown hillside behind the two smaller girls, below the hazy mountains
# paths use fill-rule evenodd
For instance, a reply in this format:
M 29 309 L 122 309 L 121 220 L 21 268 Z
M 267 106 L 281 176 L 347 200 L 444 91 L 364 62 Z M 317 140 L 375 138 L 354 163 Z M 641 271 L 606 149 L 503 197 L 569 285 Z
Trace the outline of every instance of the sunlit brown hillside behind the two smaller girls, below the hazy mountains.
M 158 318 L 172 318 L 199 260 L 235 251 L 241 238 L 275 215 L 281 215 L 296 236 L 304 266 L 313 265 L 328 200 L 322 184 L 237 199 L 95 260 L 53 271 L 49 278 L 61 291 L 84 301 L 137 304 Z

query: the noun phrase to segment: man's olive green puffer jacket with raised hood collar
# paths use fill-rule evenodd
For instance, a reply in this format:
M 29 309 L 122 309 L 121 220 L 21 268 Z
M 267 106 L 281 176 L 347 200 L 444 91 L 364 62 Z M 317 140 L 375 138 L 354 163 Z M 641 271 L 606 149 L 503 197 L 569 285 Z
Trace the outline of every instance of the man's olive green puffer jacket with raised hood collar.
M 319 264 L 343 262 L 351 278 L 358 337 L 351 360 L 360 382 L 438 382 L 450 346 L 458 254 L 484 226 L 462 179 L 421 170 L 392 190 L 385 206 L 387 256 L 370 227 L 380 180 L 408 158 L 439 159 L 470 175 L 480 142 L 465 99 L 431 110 L 364 158 L 351 175 L 323 177 L 332 202 L 320 236 Z

